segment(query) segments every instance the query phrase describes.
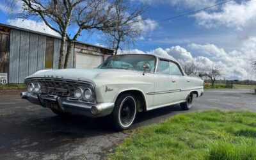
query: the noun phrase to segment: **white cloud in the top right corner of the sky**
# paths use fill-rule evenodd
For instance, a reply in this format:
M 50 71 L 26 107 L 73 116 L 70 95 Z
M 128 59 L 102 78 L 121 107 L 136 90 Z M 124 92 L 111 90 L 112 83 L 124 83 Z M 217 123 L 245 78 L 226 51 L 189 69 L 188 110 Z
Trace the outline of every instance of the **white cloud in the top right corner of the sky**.
M 199 26 L 205 28 L 216 28 L 218 26 L 227 26 L 241 31 L 242 36 L 252 36 L 256 34 L 256 1 L 242 1 L 240 4 L 236 1 L 223 4 L 219 12 L 200 12 L 192 17 L 196 18 Z

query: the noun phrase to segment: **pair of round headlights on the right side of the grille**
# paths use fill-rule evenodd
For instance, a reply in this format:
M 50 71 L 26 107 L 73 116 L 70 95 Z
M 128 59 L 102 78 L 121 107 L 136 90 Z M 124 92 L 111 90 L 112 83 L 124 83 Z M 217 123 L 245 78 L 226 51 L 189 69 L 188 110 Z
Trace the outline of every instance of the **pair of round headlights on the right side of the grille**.
M 90 88 L 77 87 L 75 90 L 75 97 L 79 100 L 83 99 L 86 101 L 92 101 L 93 93 Z

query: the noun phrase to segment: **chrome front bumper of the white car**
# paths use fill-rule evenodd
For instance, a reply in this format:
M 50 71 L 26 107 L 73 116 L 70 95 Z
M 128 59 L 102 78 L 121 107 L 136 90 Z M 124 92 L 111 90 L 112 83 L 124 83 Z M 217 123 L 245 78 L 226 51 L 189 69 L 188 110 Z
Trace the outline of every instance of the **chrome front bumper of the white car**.
M 56 102 L 60 111 L 89 117 L 109 115 L 115 106 L 114 103 L 90 104 L 86 102 L 79 102 L 77 100 L 68 100 L 67 97 L 45 94 L 32 95 L 28 92 L 20 93 L 20 98 L 28 99 L 29 102 L 40 104 L 44 108 L 47 108 L 47 100 L 51 100 Z

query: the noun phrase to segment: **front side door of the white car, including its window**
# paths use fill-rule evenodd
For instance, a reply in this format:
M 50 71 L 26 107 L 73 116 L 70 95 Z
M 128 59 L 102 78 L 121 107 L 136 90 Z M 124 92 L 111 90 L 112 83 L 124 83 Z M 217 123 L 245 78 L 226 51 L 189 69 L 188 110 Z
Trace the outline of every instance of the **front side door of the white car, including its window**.
M 170 74 L 169 61 L 159 60 L 157 73 L 154 74 L 155 90 L 153 108 L 175 102 L 177 99 L 177 77 Z

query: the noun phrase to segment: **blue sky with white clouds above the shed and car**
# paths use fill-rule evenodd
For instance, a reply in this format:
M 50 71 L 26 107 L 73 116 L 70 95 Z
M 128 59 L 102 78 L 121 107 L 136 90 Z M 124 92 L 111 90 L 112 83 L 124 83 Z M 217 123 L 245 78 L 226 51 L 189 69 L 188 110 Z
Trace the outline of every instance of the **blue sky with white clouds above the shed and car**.
M 135 1 L 135 0 L 131 0 Z M 156 54 L 184 65 L 194 61 L 200 70 L 218 67 L 223 79 L 255 79 L 248 63 L 256 60 L 256 0 L 230 1 L 193 15 L 168 19 L 223 2 L 223 0 L 137 0 L 147 3 L 148 19 L 138 27 L 144 33 L 134 46 L 119 54 Z M 0 3 L 0 23 L 58 35 L 44 22 L 8 16 Z M 69 33 L 76 31 L 70 26 Z M 83 31 L 77 40 L 106 45 L 99 33 Z

